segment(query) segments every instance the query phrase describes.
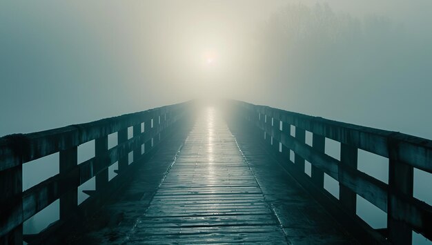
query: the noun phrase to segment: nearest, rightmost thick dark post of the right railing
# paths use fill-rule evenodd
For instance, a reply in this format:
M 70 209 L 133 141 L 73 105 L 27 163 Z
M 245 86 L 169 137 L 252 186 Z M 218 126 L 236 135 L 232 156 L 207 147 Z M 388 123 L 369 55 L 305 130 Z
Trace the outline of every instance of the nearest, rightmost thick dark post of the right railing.
M 404 210 L 395 194 L 400 193 L 413 197 L 414 169 L 412 166 L 397 161 L 397 148 L 389 144 L 389 196 L 387 201 L 387 228 L 389 238 L 394 244 L 411 244 L 412 230 L 404 222 L 397 220 L 400 213 L 408 213 Z

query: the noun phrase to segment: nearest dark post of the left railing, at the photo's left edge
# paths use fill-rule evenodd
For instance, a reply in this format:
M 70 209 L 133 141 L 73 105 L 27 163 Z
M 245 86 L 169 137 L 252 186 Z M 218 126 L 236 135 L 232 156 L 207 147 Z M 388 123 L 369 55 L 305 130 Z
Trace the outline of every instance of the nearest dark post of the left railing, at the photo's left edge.
M 7 208 L 1 208 L 0 214 L 3 216 L 3 212 L 8 213 L 11 216 L 10 221 L 23 222 L 22 169 L 21 161 L 18 166 L 0 172 L 0 204 L 7 206 Z M 10 213 L 9 209 L 16 210 L 17 213 Z M 5 225 L 8 226 L 8 224 Z M 0 244 L 23 244 L 23 224 L 19 224 L 12 231 L 0 237 Z

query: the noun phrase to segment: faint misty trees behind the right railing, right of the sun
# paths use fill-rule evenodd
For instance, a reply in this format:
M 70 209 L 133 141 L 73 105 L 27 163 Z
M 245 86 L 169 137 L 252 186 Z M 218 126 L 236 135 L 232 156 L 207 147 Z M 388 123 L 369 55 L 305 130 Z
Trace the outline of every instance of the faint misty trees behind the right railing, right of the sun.
M 290 4 L 254 32 L 256 99 L 432 137 L 421 121 L 427 115 L 432 122 L 432 39 L 429 27 L 418 28 L 380 16 L 360 19 L 327 4 Z

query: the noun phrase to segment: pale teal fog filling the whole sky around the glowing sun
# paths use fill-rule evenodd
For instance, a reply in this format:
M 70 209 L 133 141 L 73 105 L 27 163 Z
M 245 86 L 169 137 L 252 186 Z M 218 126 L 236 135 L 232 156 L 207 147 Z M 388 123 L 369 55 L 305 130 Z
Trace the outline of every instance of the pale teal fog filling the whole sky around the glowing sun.
M 2 1 L 0 136 L 222 97 L 431 139 L 431 9 Z

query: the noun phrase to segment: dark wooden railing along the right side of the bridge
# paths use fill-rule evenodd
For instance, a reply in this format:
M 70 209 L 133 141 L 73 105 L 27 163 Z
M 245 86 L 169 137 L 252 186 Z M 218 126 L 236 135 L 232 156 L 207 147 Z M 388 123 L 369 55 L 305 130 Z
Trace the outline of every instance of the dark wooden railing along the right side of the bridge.
M 325 197 L 333 199 L 328 206 L 342 219 L 360 219 L 355 214 L 356 195 L 386 212 L 384 231 L 374 231 L 360 219 L 364 223 L 360 225 L 371 230 L 366 235 L 394 244 L 411 244 L 412 231 L 432 239 L 432 207 L 413 197 L 413 169 L 432 173 L 431 140 L 242 101 L 230 101 L 228 107 L 239 117 L 240 125 L 253 125 L 251 130 L 283 161 L 293 177 L 300 179 L 300 184 L 310 183 L 313 190 L 326 193 L 324 173 L 336 179 L 340 184 L 339 199 Z M 295 137 L 290 134 L 291 126 L 295 126 Z M 312 146 L 305 143 L 306 130 L 313 134 Z M 340 142 L 340 160 L 324 154 L 325 138 Z M 389 159 L 389 184 L 357 169 L 358 149 Z M 290 161 L 290 150 L 295 153 L 294 162 Z M 311 163 L 311 177 L 304 173 L 305 160 Z

